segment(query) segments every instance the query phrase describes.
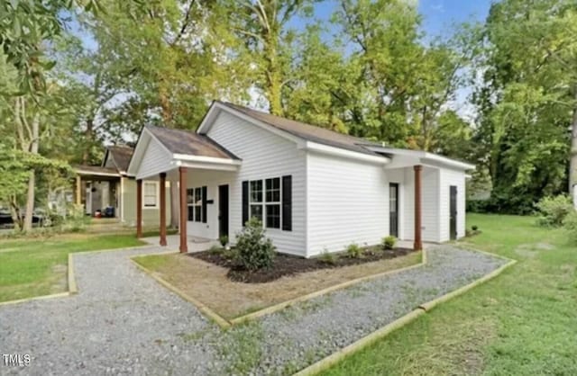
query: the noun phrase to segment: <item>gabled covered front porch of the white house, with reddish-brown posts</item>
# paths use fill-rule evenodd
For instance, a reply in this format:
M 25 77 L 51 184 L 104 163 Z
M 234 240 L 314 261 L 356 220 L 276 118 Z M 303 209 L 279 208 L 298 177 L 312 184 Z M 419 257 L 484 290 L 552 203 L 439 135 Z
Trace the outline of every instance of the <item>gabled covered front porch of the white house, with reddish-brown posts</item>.
M 135 148 L 129 173 L 136 177 L 136 235 L 142 237 L 143 181 L 158 182 L 160 246 L 167 237 L 167 182 L 178 205 L 179 251 L 209 248 L 229 236 L 231 186 L 241 161 L 211 139 L 194 132 L 146 127 Z M 176 191 L 176 192 L 175 192 Z M 178 211 L 177 211 L 178 210 Z

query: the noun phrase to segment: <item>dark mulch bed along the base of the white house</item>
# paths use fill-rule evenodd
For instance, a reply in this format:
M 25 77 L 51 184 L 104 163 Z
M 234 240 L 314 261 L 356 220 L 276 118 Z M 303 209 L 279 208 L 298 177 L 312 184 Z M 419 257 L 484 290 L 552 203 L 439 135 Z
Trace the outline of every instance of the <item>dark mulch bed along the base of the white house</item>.
M 228 268 L 226 276 L 234 282 L 262 283 L 279 279 L 285 275 L 312 272 L 319 269 L 334 269 L 348 265 L 365 264 L 373 261 L 386 260 L 414 252 L 409 248 L 394 248 L 381 250 L 378 246 L 364 248 L 361 258 L 351 258 L 347 255 L 334 255 L 333 262 L 321 258 L 302 258 L 294 255 L 277 254 L 269 269 L 251 272 L 237 264 L 224 252 L 205 251 L 188 254 L 191 257 Z M 229 253 L 230 255 L 230 253 Z

